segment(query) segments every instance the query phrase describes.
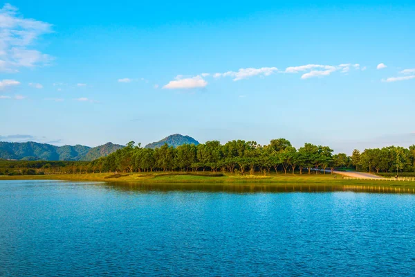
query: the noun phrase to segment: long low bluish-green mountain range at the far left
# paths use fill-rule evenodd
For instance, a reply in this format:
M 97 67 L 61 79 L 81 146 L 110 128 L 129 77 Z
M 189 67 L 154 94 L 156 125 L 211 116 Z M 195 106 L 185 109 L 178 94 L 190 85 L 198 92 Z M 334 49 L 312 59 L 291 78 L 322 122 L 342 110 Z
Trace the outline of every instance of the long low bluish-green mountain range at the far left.
M 56 146 L 47 143 L 8 143 L 0 141 L 0 159 L 26 161 L 92 161 L 124 146 L 106 143 L 90 148 L 84 145 Z

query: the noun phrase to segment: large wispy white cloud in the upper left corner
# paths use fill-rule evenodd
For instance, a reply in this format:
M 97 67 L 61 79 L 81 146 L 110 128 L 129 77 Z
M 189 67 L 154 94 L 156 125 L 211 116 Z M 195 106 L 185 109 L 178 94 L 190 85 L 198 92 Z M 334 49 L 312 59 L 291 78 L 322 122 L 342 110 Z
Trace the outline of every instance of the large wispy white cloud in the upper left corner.
M 18 9 L 6 3 L 0 9 L 0 71 L 17 72 L 19 67 L 47 64 L 49 55 L 30 49 L 35 40 L 51 32 L 51 25 L 19 15 Z

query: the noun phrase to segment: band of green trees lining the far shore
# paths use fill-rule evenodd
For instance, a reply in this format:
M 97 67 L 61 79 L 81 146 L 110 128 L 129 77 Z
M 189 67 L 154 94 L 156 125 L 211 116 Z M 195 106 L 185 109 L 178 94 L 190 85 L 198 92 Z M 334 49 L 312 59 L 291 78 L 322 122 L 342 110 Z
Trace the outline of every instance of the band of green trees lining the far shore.
M 12 168 L 11 168 L 12 167 Z M 333 154 L 329 146 L 305 143 L 296 149 L 286 139 L 274 139 L 268 145 L 235 140 L 221 144 L 208 141 L 176 148 L 142 148 L 129 142 L 107 157 L 91 162 L 1 161 L 0 175 L 71 174 L 93 172 L 210 171 L 241 175 L 283 173 L 311 174 L 333 170 L 357 170 L 373 173 L 414 172 L 415 145 L 409 148 L 354 150 L 348 156 Z

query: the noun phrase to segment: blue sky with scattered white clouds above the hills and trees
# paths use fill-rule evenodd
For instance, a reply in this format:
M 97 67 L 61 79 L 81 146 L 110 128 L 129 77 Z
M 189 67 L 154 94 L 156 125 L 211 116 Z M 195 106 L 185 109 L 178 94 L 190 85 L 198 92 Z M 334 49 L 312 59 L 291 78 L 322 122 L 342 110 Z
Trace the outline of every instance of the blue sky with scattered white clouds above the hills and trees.
M 0 141 L 415 144 L 414 1 L 131 2 L 0 2 Z

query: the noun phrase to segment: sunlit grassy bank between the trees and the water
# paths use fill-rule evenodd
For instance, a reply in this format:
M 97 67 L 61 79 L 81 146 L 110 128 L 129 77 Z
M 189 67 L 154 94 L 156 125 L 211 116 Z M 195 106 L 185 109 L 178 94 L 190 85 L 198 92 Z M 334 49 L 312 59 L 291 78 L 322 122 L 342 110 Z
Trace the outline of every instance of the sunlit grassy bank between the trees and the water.
M 91 173 L 75 175 L 17 175 L 0 176 L 0 180 L 65 180 L 65 181 L 111 181 L 111 182 L 136 182 L 148 184 L 313 184 L 313 185 L 339 185 L 339 186 L 392 186 L 403 188 L 415 188 L 414 181 L 377 181 L 377 180 L 349 180 L 341 176 L 334 178 L 333 175 L 222 175 L 210 173 L 185 173 L 185 172 L 145 172 L 118 174 Z

